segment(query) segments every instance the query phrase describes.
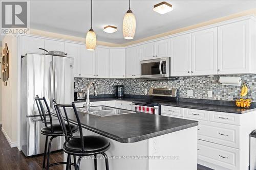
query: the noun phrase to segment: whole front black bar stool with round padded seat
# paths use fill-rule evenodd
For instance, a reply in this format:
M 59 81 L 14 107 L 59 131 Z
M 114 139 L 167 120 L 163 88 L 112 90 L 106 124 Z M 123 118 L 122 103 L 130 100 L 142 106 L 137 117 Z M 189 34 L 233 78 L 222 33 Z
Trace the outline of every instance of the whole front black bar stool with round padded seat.
M 77 114 L 77 110 L 76 110 L 74 102 L 72 103 L 72 105 L 60 105 L 60 104 L 56 104 L 56 103 L 54 103 L 53 105 L 56 110 L 57 116 L 59 118 L 59 122 L 62 127 L 62 131 L 63 131 L 64 135 L 66 136 L 66 139 L 69 139 L 63 144 L 63 151 L 68 154 L 66 169 L 68 170 L 68 168 L 69 168 L 69 164 L 71 161 L 70 155 L 79 156 L 78 160 L 77 160 L 77 164 L 75 166 L 75 170 L 79 169 L 80 161 L 83 156 L 93 155 L 94 156 L 94 169 L 97 170 L 97 155 L 102 154 L 105 158 L 106 170 L 109 170 L 108 156 L 105 154 L 105 151 L 109 150 L 110 142 L 106 138 L 101 137 L 101 136 L 93 136 L 93 135 L 83 136 L 81 122 L 80 122 L 79 116 Z M 71 111 L 71 113 L 69 113 L 69 115 L 72 115 L 75 113 L 80 136 L 73 136 L 72 134 L 68 133 L 70 131 L 71 126 L 65 126 L 65 120 L 68 122 L 68 125 L 70 125 L 66 108 L 69 109 L 68 112 Z M 73 109 L 71 109 L 71 108 L 73 108 Z M 63 116 L 65 116 L 65 119 L 63 118 Z M 76 161 L 74 161 L 74 162 L 76 162 Z

